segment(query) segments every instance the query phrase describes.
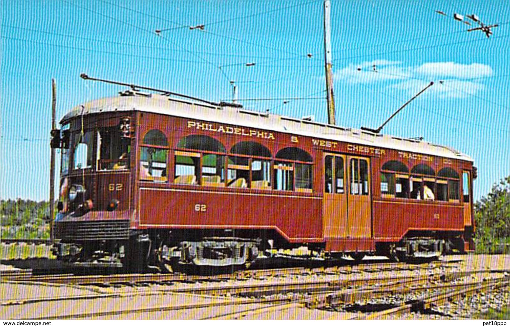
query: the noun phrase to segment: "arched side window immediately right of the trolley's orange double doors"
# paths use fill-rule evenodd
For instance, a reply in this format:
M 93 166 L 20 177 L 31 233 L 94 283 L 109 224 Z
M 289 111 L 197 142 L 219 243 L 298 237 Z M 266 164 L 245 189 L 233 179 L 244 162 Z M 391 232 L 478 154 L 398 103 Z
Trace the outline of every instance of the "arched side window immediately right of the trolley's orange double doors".
M 383 197 L 409 197 L 409 169 L 400 161 L 388 161 L 381 168 L 380 190 Z

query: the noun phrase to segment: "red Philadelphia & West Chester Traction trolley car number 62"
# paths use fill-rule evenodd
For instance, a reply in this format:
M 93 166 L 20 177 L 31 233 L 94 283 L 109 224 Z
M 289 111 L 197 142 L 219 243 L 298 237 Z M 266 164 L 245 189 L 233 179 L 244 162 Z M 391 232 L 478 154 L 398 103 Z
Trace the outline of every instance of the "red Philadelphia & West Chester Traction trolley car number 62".
M 242 265 L 268 248 L 472 250 L 473 160 L 422 140 L 130 90 L 61 120 L 59 259 Z

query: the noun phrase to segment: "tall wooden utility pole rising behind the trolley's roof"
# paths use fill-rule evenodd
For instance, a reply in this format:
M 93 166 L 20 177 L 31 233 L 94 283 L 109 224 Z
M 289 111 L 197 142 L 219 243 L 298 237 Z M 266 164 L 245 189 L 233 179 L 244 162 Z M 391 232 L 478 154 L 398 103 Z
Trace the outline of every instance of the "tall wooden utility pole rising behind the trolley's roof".
M 335 121 L 335 97 L 333 96 L 333 61 L 331 59 L 331 4 L 324 0 L 324 65 L 326 68 L 326 90 L 327 90 L 327 122 L 336 124 Z

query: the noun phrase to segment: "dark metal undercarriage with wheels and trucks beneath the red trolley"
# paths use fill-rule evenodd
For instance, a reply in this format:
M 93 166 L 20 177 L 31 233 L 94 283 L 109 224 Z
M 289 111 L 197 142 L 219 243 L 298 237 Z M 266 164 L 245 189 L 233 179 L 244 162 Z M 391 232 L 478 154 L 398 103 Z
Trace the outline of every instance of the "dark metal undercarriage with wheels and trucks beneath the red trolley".
M 179 238 L 168 230 L 144 232 L 132 230 L 127 239 L 74 240 L 67 238 L 56 243 L 53 253 L 63 262 L 73 266 L 113 267 L 130 271 L 151 268 L 171 272 L 185 266 L 249 266 L 259 255 L 271 256 L 274 250 L 282 249 L 282 241 L 262 237 L 205 236 L 191 232 L 176 232 Z M 210 233 L 209 233 L 210 235 Z M 245 234 L 246 235 L 246 234 Z M 399 242 L 378 242 L 375 252 L 325 253 L 323 246 L 298 244 L 317 252 L 317 257 L 344 258 L 350 256 L 361 261 L 365 255 L 387 256 L 392 261 L 413 259 L 435 259 L 453 251 L 462 252 L 462 238 L 404 237 Z M 296 245 L 294 245 L 297 247 Z M 290 248 L 290 247 L 288 247 Z M 284 249 L 288 249 L 284 248 Z M 322 254 L 321 254 L 322 253 Z

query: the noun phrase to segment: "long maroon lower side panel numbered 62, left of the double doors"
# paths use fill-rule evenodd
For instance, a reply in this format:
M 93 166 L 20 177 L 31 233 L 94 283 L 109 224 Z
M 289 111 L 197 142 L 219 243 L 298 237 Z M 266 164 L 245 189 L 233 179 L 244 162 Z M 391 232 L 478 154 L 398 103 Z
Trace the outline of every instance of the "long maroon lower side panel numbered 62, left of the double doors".
M 276 229 L 292 242 L 322 240 L 322 200 L 289 194 L 140 189 L 141 226 Z

